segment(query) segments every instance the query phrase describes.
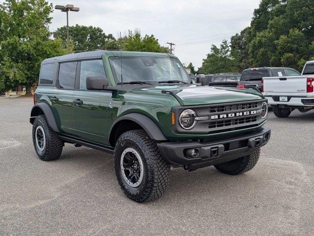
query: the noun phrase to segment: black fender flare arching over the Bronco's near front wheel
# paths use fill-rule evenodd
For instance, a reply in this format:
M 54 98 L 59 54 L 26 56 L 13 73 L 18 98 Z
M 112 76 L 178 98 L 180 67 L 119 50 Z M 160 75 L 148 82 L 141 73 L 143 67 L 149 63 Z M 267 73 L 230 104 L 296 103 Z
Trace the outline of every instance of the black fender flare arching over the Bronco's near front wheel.
M 135 123 L 140 125 L 147 132 L 147 134 L 149 135 L 149 137 L 151 137 L 151 139 L 154 139 L 156 141 L 166 141 L 167 140 L 165 138 L 165 136 L 163 135 L 163 133 L 161 132 L 161 130 L 159 129 L 159 127 L 157 126 L 157 124 L 151 118 L 148 118 L 147 116 L 144 116 L 144 115 L 139 114 L 139 113 L 130 113 L 130 114 L 127 114 L 125 116 L 122 116 L 122 117 L 116 119 L 113 122 L 113 124 L 111 125 L 111 128 L 110 128 L 110 131 L 109 131 L 109 141 L 111 140 L 112 135 L 115 135 L 114 130 L 116 130 L 120 121 L 122 121 L 122 120 L 134 121 Z

